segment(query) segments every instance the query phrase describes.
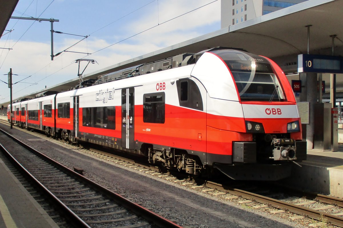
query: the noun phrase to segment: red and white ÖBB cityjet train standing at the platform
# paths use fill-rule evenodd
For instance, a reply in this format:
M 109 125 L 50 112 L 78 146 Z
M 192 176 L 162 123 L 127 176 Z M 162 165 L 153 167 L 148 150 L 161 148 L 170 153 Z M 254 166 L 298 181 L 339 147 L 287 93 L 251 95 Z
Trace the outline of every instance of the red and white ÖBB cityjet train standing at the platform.
M 194 176 L 280 180 L 291 175 L 292 163 L 306 160 L 286 76 L 271 59 L 243 49 L 217 47 L 133 66 L 15 102 L 12 113 L 22 128 Z

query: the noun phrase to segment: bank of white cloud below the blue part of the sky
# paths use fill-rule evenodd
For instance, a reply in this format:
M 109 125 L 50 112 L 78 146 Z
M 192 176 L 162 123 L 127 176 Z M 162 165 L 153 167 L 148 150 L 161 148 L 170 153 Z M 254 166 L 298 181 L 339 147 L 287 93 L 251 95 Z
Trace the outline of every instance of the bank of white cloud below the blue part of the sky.
M 83 40 L 73 46 L 69 51 L 94 53 L 100 49 L 110 46 L 120 40 L 126 39 L 145 29 L 151 28 L 159 23 L 163 23 L 171 18 L 184 14 L 188 11 L 196 9 L 211 0 L 174 0 L 174 1 L 159 1 L 159 11 L 157 20 L 157 2 L 155 5 L 149 5 L 149 8 L 144 12 L 134 15 L 134 21 L 121 28 L 123 31 L 116 31 L 113 27 L 106 27 L 108 36 L 97 37 L 97 33 L 92 34 L 87 40 Z M 30 84 L 16 84 L 13 86 L 13 98 L 20 97 L 35 91 L 59 84 L 77 77 L 78 65 L 72 63 L 75 59 L 90 58 L 95 59 L 99 65 L 91 64 L 87 67 L 84 74 L 91 73 L 96 70 L 106 68 L 108 66 L 126 61 L 128 59 L 150 53 L 179 42 L 192 39 L 203 35 L 204 33 L 219 29 L 218 22 L 220 21 L 220 1 L 204 6 L 201 9 L 195 10 L 189 14 L 178 17 L 167 23 L 158 25 L 157 27 L 145 31 L 137 36 L 134 36 L 123 42 L 112 45 L 95 54 L 86 56 L 85 54 L 63 52 L 55 57 L 55 61 L 50 60 L 50 43 L 35 41 L 22 41 L 16 43 L 4 60 L 5 52 L 0 57 L 0 68 L 2 74 L 7 73 L 9 68 L 13 68 L 13 73 L 18 75 L 32 75 L 24 82 L 36 83 L 38 85 L 29 86 Z M 217 23 L 218 28 L 210 26 Z M 77 26 L 77 24 L 75 24 Z M 204 30 L 206 28 L 207 30 Z M 210 31 L 208 31 L 210 30 Z M 121 34 L 121 35 L 118 35 Z M 123 35 L 124 34 L 124 35 Z M 72 44 L 78 42 L 79 38 L 61 39 L 55 36 L 54 39 L 54 54 L 60 52 Z M 11 40 L 13 44 L 16 40 Z M 0 40 L 0 47 L 3 47 L 6 40 Z M 81 71 L 84 65 L 81 65 Z M 50 76 L 51 75 L 51 76 Z M 15 76 L 15 79 L 23 79 L 23 76 Z M 3 81 L 7 81 L 7 77 L 2 77 Z M 18 81 L 18 80 L 17 80 Z M 9 100 L 7 85 L 0 83 L 1 98 Z M 4 100 L 3 100 L 4 101 Z

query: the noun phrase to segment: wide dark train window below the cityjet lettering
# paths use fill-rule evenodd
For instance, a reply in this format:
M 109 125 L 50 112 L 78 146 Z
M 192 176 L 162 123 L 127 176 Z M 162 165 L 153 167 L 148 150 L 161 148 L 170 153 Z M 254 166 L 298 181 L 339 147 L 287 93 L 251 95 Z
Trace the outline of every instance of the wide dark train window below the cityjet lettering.
M 94 128 L 116 129 L 116 107 L 82 108 L 82 125 Z

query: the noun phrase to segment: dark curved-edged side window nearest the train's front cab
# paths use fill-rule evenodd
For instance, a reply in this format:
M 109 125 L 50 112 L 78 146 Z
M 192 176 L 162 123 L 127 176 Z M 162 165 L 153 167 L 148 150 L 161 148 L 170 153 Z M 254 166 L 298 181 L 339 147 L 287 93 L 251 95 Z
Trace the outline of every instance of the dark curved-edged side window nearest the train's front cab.
M 201 93 L 193 80 L 178 80 L 176 81 L 176 88 L 180 106 L 203 110 Z

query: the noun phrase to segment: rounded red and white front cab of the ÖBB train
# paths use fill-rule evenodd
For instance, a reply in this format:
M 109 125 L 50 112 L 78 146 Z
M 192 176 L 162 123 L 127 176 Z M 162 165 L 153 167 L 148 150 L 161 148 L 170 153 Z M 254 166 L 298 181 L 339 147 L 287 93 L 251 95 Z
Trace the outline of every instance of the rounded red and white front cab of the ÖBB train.
M 238 50 L 214 50 L 211 72 L 194 67 L 192 75 L 215 75 L 208 91 L 207 163 L 232 179 L 278 180 L 291 175 L 292 161 L 306 159 L 301 122 L 291 86 L 268 58 Z M 208 72 L 206 72 L 208 71 Z

